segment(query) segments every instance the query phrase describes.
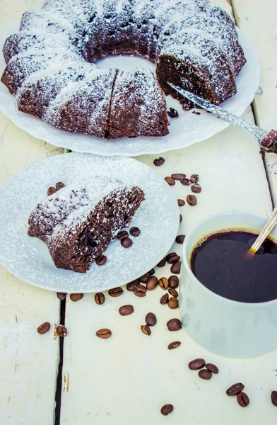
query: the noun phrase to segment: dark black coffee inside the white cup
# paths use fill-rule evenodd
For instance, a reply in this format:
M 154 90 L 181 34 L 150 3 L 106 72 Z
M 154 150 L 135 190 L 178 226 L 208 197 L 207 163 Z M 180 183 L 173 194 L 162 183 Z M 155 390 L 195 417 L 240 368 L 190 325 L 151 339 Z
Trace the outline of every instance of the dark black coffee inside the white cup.
M 191 254 L 191 270 L 214 293 L 241 302 L 277 298 L 277 245 L 266 239 L 251 258 L 246 254 L 257 234 L 213 234 Z

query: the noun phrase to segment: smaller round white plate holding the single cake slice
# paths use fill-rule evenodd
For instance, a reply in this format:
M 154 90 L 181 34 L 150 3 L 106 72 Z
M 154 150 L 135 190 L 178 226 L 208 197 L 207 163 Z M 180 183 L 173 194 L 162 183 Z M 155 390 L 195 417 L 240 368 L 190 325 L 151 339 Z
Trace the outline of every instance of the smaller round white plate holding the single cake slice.
M 124 249 L 116 239 L 108 246 L 104 266 L 90 266 L 87 273 L 56 268 L 47 245 L 29 237 L 28 217 L 57 181 L 65 185 L 89 176 L 112 176 L 143 189 L 146 200 L 132 226 L 141 229 Z M 65 293 L 89 293 L 131 282 L 167 254 L 179 228 L 179 208 L 170 186 L 136 159 L 61 154 L 43 159 L 13 176 L 0 189 L 0 263 L 31 285 Z

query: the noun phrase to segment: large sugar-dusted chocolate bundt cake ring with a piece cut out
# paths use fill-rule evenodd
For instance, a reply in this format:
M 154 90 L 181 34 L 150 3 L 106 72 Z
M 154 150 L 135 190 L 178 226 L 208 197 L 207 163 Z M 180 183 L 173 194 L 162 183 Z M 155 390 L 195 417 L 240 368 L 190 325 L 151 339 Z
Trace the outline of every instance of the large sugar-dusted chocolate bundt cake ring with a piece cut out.
M 149 69 L 99 69 L 140 55 Z M 46 0 L 4 45 L 1 81 L 20 111 L 61 130 L 116 139 L 168 134 L 167 82 L 212 103 L 236 93 L 245 63 L 230 16 L 208 0 Z

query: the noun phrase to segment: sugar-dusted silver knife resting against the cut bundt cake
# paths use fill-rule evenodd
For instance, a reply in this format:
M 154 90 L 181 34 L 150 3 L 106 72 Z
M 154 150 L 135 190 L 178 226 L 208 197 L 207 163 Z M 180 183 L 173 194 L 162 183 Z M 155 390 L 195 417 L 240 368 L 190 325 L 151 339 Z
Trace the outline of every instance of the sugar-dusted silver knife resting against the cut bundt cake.
M 260 142 L 261 149 L 264 152 L 273 152 L 277 154 L 277 131 L 271 130 L 270 132 L 267 132 L 266 130 L 263 130 L 261 127 L 258 127 L 258 125 L 254 125 L 251 123 L 248 123 L 248 121 L 243 120 L 240 117 L 237 117 L 237 115 L 234 115 L 233 113 L 230 113 L 226 111 L 223 108 L 220 108 L 219 106 L 213 105 L 213 103 L 209 101 L 205 101 L 199 96 L 196 96 L 196 94 L 192 94 L 187 90 L 181 89 L 178 86 L 175 86 L 174 84 L 169 84 L 172 89 L 175 89 L 179 94 L 184 96 L 185 98 L 189 99 L 189 101 L 196 103 L 196 105 L 201 106 L 201 108 L 206 109 L 206 111 L 214 113 L 218 115 L 218 117 L 223 118 L 226 121 L 229 121 L 232 124 L 237 125 L 240 128 L 243 128 L 243 130 L 249 131 L 252 133 L 252 135 L 256 136 L 257 139 Z

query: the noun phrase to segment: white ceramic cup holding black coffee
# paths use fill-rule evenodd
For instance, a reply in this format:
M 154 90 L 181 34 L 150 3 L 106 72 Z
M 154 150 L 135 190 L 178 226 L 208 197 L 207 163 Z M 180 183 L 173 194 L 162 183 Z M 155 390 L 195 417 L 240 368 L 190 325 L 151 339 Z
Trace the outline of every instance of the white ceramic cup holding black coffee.
M 249 303 L 221 297 L 194 276 L 189 257 L 205 234 L 242 228 L 258 233 L 266 221 L 249 212 L 223 212 L 199 222 L 184 239 L 179 293 L 182 324 L 194 341 L 221 356 L 261 356 L 277 347 L 277 299 Z M 277 240 L 277 226 L 271 237 Z

